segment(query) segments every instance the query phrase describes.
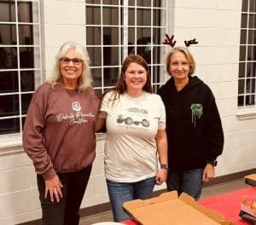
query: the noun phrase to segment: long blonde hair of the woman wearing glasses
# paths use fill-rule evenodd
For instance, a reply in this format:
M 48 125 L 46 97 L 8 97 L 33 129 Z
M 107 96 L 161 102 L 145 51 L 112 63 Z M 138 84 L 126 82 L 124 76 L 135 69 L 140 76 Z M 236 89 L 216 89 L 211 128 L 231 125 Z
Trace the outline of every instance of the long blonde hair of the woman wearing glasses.
M 67 51 L 73 49 L 75 51 L 76 57 L 83 61 L 82 74 L 78 80 L 78 91 L 84 91 L 88 89 L 92 83 L 91 73 L 90 73 L 90 57 L 87 50 L 80 43 L 66 42 L 61 45 L 61 48 L 57 55 L 55 55 L 55 66 L 51 76 L 48 79 L 48 83 L 52 85 L 53 88 L 59 88 L 62 85 L 62 75 L 60 69 L 60 59 L 64 55 L 67 55 Z

